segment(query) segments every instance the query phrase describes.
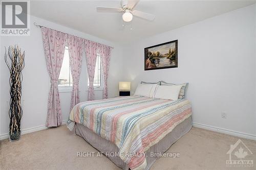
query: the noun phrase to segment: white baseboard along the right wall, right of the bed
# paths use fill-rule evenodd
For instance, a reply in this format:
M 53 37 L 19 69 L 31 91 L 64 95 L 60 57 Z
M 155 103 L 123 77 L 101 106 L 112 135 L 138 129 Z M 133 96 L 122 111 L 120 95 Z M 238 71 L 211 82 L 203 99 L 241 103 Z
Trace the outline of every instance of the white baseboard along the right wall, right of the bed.
M 256 140 L 256 135 L 248 134 L 248 133 L 243 133 L 243 132 L 238 132 L 238 131 L 232 131 L 228 129 L 223 129 L 223 128 L 218 128 L 214 126 L 208 126 L 204 124 L 199 124 L 199 123 L 192 123 L 194 127 L 196 128 L 201 128 L 201 129 L 206 129 L 214 132 L 219 132 L 219 133 L 224 133 L 232 136 L 237 136 L 237 137 L 242 137 L 246 139 L 251 139 L 251 140 Z

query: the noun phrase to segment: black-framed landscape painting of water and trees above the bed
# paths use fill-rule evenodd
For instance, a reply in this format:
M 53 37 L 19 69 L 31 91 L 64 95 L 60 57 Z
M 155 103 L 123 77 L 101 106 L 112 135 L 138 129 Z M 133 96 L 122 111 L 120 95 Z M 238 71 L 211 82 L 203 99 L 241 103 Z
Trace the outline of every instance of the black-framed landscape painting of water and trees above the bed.
M 144 70 L 178 67 L 178 40 L 144 48 Z

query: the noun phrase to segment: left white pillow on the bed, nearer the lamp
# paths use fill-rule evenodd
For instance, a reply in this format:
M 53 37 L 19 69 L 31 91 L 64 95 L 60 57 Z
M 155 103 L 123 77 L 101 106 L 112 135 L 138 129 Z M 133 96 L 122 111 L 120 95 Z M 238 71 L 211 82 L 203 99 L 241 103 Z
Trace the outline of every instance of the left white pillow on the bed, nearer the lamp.
M 147 98 L 153 98 L 157 84 L 139 84 L 134 95 L 141 95 Z

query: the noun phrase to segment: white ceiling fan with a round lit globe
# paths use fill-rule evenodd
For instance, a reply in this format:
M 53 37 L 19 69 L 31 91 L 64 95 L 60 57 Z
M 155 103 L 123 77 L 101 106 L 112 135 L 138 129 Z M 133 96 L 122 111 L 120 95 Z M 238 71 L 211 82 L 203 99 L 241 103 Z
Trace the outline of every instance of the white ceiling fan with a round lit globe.
M 122 18 L 125 22 L 130 22 L 134 16 L 138 16 L 147 20 L 154 20 L 155 15 L 148 14 L 146 12 L 141 12 L 134 10 L 135 6 L 138 4 L 139 0 L 128 0 L 121 1 L 121 8 L 112 8 L 112 7 L 97 7 L 97 12 L 119 12 L 123 13 Z

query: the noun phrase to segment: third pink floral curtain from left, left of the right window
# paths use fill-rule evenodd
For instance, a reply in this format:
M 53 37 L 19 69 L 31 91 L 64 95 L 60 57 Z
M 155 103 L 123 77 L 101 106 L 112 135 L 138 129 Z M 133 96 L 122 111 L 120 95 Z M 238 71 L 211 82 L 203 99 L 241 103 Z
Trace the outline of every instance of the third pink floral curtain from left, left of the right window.
M 93 89 L 93 80 L 95 65 L 97 59 L 97 42 L 90 40 L 85 40 L 85 50 L 86 50 L 86 63 L 87 63 L 87 72 L 89 77 L 89 88 L 88 88 L 88 101 L 94 100 L 94 89 Z

